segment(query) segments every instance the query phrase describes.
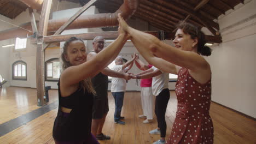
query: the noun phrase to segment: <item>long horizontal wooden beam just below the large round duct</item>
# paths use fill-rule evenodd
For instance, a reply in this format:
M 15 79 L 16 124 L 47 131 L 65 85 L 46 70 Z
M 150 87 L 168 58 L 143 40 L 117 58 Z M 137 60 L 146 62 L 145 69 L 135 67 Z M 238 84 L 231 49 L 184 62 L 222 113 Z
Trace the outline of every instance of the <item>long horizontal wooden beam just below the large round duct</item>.
M 144 32 L 152 34 L 155 37 L 158 37 L 158 32 L 156 31 L 144 31 Z M 165 33 L 165 39 L 174 38 L 175 33 L 173 32 L 164 32 L 164 33 Z M 66 41 L 71 37 L 78 37 L 83 40 L 92 40 L 98 35 L 102 35 L 102 37 L 104 37 L 105 39 L 116 39 L 118 37 L 118 32 L 92 32 L 92 33 L 82 33 L 82 34 L 51 35 L 51 36 L 45 36 L 44 41 L 48 43 L 60 42 L 60 41 Z M 205 35 L 205 39 L 207 43 L 222 43 L 222 37 L 220 36 Z

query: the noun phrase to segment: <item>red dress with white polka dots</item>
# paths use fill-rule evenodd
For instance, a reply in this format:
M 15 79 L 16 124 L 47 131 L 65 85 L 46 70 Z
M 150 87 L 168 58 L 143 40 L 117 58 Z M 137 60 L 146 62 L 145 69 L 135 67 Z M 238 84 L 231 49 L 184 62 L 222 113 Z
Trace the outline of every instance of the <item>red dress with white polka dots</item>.
M 166 143 L 213 143 L 213 124 L 209 115 L 211 80 L 201 84 L 181 68 L 176 83 L 178 109 L 171 136 Z

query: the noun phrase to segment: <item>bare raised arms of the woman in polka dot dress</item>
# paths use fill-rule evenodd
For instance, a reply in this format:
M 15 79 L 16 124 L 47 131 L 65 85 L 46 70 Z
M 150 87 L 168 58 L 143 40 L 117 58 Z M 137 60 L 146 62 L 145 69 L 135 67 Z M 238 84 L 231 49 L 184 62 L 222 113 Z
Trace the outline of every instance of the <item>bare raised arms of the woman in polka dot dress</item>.
M 120 15 L 119 23 L 124 28 L 124 31 L 131 35 L 130 39 L 139 53 L 141 53 L 149 63 L 163 71 L 173 71 L 170 68 L 174 67 L 168 67 L 168 69 L 166 69 L 165 65 L 158 57 L 194 71 L 210 68 L 205 59 L 197 53 L 178 50 L 175 47 L 163 43 L 151 34 L 129 27 Z

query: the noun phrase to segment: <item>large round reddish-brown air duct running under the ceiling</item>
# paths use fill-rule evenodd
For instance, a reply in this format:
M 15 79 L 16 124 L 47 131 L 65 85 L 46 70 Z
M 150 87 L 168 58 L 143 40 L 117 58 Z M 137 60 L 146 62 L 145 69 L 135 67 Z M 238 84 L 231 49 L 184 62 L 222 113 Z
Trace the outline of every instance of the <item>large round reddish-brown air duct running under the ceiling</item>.
M 24 0 L 22 0 L 24 1 Z M 28 1 L 28 0 L 27 0 Z M 66 29 L 80 29 L 80 28 L 92 28 L 92 27 L 113 27 L 118 26 L 118 13 L 125 20 L 129 19 L 136 11 L 139 4 L 139 0 L 124 0 L 124 3 L 115 13 L 104 13 L 94 15 L 81 15 L 74 22 L 71 23 Z M 69 18 L 59 20 L 49 20 L 48 32 L 57 31 Z M 37 22 L 38 23 L 38 22 Z M 28 32 L 25 29 L 32 31 L 31 23 L 26 22 L 20 27 L 24 28 L 10 28 L 0 32 L 0 40 L 11 38 L 24 38 L 27 35 L 32 35 L 32 32 Z

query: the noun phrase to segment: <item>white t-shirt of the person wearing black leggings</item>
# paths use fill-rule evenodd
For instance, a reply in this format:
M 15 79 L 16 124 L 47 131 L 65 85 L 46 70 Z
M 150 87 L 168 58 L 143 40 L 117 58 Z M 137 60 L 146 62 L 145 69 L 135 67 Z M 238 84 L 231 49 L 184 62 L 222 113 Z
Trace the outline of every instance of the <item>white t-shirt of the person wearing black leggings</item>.
M 158 68 L 153 66 L 152 69 L 156 70 Z M 164 73 L 164 71 L 161 71 L 161 72 L 162 72 L 161 75 L 155 76 L 152 79 L 152 92 L 155 96 L 159 95 L 159 93 L 163 89 L 168 88 L 169 74 Z

